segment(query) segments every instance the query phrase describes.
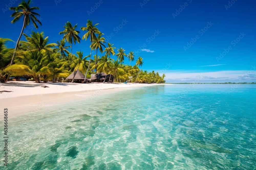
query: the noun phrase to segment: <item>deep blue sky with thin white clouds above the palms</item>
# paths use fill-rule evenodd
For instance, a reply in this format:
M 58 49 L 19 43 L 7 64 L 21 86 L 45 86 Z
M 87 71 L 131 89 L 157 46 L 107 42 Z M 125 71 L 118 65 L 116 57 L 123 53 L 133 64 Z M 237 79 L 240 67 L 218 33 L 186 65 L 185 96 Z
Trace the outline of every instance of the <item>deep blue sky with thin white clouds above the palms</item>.
M 0 37 L 17 41 L 22 21 L 11 24 L 13 11 L 5 8 L 19 2 L 1 1 Z M 114 47 L 134 51 L 135 59 L 143 58 L 143 70 L 164 73 L 167 82 L 256 82 L 255 1 L 34 0 L 31 6 L 40 8 L 42 26 L 24 32 L 43 31 L 50 43 L 61 39 L 67 21 L 78 25 L 82 37 L 80 27 L 89 19 Z M 89 45 L 81 41 L 72 51 L 85 56 Z

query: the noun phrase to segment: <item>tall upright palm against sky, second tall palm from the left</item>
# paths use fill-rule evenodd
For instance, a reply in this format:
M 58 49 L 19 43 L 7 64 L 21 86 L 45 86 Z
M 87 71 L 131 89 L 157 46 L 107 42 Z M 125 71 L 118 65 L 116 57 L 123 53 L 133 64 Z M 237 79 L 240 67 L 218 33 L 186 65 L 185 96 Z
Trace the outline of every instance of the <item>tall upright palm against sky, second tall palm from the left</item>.
M 79 31 L 76 31 L 77 24 L 73 27 L 72 24 L 68 21 L 65 23 L 64 31 L 61 31 L 59 34 L 64 34 L 63 40 L 66 40 L 69 44 L 71 44 L 71 55 L 72 55 L 72 44 L 74 42 L 74 45 L 76 42 L 80 43 L 81 38 L 78 36 L 80 33 Z

